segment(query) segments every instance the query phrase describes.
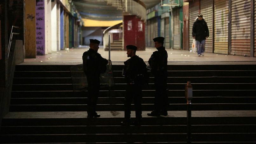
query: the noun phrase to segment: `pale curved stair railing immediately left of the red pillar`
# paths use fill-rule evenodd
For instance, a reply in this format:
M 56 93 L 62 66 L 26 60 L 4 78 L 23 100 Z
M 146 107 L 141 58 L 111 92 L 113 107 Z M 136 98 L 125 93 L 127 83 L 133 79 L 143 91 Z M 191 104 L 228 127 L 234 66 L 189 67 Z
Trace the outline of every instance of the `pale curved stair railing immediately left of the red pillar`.
M 110 43 L 113 43 L 113 32 L 111 32 L 111 30 L 117 30 L 119 33 L 119 38 L 122 38 L 122 24 L 123 23 L 119 23 L 119 24 L 115 24 L 113 26 L 108 27 L 106 30 L 103 31 L 103 48 L 106 50 L 108 44 L 108 37 L 110 35 Z

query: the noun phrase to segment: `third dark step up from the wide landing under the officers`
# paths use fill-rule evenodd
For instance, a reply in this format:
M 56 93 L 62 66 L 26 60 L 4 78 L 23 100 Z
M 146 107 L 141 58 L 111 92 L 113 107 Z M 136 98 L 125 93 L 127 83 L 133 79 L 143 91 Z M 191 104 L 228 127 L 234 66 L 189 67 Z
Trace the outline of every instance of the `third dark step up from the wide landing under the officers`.
M 125 90 L 111 91 L 112 97 L 123 97 L 126 92 Z M 114 93 L 114 94 L 113 94 Z M 169 90 L 168 96 L 170 97 L 182 97 L 184 98 L 184 90 Z M 193 90 L 194 97 L 243 97 L 253 96 L 256 90 Z M 73 91 L 12 91 L 12 98 L 72 98 L 86 97 L 87 91 L 85 92 L 73 92 Z M 109 92 L 100 91 L 101 97 L 108 97 Z M 143 97 L 154 97 L 155 90 L 143 91 Z

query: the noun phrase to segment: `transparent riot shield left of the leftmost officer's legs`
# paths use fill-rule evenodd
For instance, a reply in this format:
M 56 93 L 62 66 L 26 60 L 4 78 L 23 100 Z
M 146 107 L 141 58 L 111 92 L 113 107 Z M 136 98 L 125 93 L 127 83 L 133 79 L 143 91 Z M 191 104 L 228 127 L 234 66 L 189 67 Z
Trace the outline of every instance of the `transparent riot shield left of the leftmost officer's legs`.
M 70 67 L 73 91 L 86 91 L 88 87 L 86 75 L 84 73 L 83 64 L 73 65 Z

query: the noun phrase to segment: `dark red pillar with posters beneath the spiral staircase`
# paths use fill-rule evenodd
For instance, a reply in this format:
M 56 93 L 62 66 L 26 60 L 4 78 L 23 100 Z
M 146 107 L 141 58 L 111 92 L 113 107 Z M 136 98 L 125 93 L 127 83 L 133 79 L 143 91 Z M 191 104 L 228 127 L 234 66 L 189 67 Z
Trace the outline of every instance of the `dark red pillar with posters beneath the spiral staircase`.
M 145 50 L 145 23 L 141 18 L 133 16 L 123 16 L 124 22 L 124 50 L 126 45 L 135 45 L 138 51 Z

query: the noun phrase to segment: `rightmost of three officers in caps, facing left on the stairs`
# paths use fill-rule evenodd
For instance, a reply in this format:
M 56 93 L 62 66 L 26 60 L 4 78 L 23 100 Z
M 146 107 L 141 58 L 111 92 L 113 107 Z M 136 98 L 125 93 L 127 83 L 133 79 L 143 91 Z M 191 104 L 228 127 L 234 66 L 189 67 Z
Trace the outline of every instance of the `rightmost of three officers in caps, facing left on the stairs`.
M 167 97 L 167 58 L 168 54 L 163 47 L 163 37 L 153 39 L 157 51 L 153 52 L 149 58 L 151 72 L 155 76 L 154 82 L 156 87 L 155 109 L 148 113 L 149 116 L 168 115 L 168 97 Z

